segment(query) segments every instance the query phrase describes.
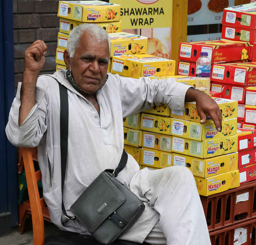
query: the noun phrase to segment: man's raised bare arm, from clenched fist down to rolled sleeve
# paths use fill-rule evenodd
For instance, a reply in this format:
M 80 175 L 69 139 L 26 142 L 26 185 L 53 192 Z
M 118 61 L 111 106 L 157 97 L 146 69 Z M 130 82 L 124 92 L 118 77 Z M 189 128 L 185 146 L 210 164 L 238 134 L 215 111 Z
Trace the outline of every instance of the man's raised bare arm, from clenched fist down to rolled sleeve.
M 35 105 L 35 87 L 37 78 L 45 63 L 47 46 L 44 41 L 35 41 L 25 51 L 25 71 L 20 90 L 19 126 L 22 125 Z

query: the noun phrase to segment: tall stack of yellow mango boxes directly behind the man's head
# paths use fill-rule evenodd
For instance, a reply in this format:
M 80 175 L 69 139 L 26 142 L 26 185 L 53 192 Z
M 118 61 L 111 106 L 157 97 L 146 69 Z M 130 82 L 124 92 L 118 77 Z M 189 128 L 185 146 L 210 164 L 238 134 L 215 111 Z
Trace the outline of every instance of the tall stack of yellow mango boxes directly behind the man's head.
M 63 54 L 68 47 L 69 33 L 84 23 L 94 23 L 108 33 L 121 31 L 120 5 L 103 1 L 59 1 L 60 17 L 56 70 L 66 69 Z

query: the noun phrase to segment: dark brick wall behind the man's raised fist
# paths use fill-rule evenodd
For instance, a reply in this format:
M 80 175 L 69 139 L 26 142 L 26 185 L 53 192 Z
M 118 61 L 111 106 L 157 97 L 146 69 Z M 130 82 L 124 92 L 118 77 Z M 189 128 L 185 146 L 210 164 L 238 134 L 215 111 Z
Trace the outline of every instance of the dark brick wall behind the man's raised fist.
M 53 73 L 59 31 L 58 0 L 13 0 L 15 88 L 25 69 L 24 52 L 37 39 L 48 51 L 41 74 Z

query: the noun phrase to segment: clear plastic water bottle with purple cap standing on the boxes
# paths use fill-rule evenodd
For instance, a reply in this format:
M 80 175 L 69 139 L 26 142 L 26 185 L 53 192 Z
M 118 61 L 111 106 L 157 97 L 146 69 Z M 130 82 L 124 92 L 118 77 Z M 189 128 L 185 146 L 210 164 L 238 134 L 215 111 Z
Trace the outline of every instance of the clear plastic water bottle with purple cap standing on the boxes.
M 211 60 L 207 52 L 201 52 L 196 61 L 196 89 L 209 95 L 211 76 Z

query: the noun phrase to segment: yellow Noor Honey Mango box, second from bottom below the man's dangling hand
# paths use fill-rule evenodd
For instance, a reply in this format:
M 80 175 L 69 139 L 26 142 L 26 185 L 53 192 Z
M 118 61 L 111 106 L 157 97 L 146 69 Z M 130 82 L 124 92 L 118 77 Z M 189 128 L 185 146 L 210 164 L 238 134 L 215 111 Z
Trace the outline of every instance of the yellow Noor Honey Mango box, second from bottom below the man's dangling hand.
M 207 159 L 173 153 L 172 165 L 187 167 L 194 176 L 207 178 L 238 169 L 238 152 Z

